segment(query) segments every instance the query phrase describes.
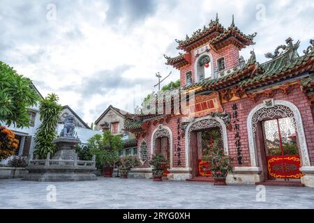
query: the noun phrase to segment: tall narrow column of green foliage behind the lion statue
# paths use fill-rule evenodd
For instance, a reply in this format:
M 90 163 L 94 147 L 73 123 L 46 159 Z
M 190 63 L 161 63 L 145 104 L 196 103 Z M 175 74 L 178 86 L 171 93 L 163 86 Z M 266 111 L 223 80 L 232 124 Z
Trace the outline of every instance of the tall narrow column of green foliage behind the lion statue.
M 45 159 L 47 153 L 54 154 L 55 145 L 52 141 L 57 137 L 57 123 L 63 109 L 58 100 L 58 96 L 52 93 L 40 101 L 41 124 L 36 132 L 34 151 L 34 155 L 39 159 Z

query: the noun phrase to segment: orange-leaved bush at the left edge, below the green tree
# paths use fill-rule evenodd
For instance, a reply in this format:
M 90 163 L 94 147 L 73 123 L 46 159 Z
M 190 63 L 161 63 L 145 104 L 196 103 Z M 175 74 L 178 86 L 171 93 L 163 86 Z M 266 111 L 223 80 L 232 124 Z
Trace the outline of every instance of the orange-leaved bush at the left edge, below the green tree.
M 0 126 L 0 161 L 14 155 L 18 144 L 15 134 L 6 127 Z

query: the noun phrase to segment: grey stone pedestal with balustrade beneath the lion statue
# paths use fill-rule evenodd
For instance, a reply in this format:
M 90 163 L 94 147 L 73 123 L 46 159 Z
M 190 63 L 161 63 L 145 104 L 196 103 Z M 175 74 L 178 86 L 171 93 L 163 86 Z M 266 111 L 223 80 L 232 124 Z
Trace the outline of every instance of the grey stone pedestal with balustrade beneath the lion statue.
M 29 174 L 22 180 L 35 181 L 80 181 L 96 180 L 96 157 L 91 161 L 77 160 L 75 145 L 79 139 L 73 137 L 59 137 L 53 141 L 57 150 L 50 159 L 50 153 L 46 160 L 29 160 L 26 169 Z

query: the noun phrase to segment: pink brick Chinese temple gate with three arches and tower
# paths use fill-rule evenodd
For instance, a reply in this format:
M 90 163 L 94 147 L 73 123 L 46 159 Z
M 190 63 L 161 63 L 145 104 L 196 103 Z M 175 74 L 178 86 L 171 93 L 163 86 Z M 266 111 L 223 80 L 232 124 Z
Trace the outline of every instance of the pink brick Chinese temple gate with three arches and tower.
M 220 137 L 233 157 L 227 183 L 314 187 L 314 40 L 299 54 L 299 41 L 287 38 L 259 63 L 253 51 L 248 59 L 239 54 L 255 36 L 241 33 L 233 18 L 223 27 L 217 16 L 176 40 L 184 53 L 165 59 L 179 70 L 181 86 L 159 91 L 126 120 L 139 145 L 138 177 L 149 177 L 149 157 L 163 153 L 167 178 L 210 178 L 202 151 Z

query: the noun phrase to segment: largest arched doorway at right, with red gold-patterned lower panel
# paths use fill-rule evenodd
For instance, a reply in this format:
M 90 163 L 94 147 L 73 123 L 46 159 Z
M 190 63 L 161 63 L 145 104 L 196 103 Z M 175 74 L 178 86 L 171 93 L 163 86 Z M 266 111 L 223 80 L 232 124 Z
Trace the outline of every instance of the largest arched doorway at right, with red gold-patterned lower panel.
M 261 167 L 264 179 L 291 180 L 302 176 L 309 158 L 301 114 L 284 100 L 264 100 L 248 115 L 251 165 Z

